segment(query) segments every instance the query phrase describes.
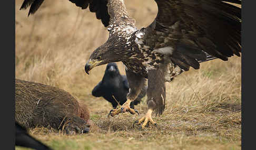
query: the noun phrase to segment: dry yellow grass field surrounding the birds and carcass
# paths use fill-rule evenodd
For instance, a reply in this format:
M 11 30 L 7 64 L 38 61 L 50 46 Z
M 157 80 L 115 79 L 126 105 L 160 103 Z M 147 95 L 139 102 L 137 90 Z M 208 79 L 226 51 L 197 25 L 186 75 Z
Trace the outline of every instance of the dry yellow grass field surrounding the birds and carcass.
M 72 136 L 36 128 L 29 131 L 32 136 L 62 150 L 241 149 L 241 58 L 204 62 L 201 69 L 191 69 L 166 83 L 165 111 L 153 117 L 157 128 L 132 128 L 137 115 L 107 118 L 110 103 L 91 95 L 105 65 L 94 68 L 90 76 L 84 65 L 109 36 L 95 14 L 68 1 L 45 1 L 35 15 L 27 17 L 28 10 L 19 10 L 22 1 L 15 2 L 16 78 L 70 92 L 89 106 L 91 119 L 99 126 L 89 134 Z M 157 13 L 152 0 L 129 0 L 126 6 L 138 28 L 149 25 Z M 122 63 L 118 65 L 124 74 Z M 135 109 L 145 113 L 146 98 Z

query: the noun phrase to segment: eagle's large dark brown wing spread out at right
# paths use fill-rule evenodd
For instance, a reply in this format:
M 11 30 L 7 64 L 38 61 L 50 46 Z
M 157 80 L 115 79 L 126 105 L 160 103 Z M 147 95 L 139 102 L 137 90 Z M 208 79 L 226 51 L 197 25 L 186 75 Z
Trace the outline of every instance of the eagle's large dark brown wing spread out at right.
M 172 62 L 185 71 L 190 66 L 199 69 L 199 62 L 207 58 L 240 56 L 241 8 L 221 0 L 155 2 L 158 13 L 154 22 L 137 34 L 142 47 L 170 54 Z M 241 4 L 239 0 L 226 2 Z

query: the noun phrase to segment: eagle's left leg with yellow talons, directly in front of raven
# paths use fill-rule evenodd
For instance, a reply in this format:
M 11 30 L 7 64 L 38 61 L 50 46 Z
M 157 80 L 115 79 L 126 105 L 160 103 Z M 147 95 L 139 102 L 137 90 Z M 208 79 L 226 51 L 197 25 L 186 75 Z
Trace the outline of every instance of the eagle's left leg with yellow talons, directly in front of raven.
M 136 110 L 130 108 L 130 104 L 132 101 L 134 101 L 141 90 L 145 87 L 146 85 L 146 79 L 144 76 L 141 76 L 140 74 L 134 73 L 130 70 L 125 69 L 126 77 L 129 82 L 129 93 L 127 94 L 126 102 L 121 106 L 120 109 L 113 109 L 110 111 L 109 115 L 114 116 L 119 113 L 124 113 L 124 112 L 130 112 L 131 114 L 138 113 Z

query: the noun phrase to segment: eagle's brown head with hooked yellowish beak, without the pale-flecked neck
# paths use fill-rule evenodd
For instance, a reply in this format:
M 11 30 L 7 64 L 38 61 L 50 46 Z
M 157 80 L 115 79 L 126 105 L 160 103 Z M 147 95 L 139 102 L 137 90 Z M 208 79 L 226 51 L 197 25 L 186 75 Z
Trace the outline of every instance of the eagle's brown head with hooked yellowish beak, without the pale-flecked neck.
M 89 71 L 96 66 L 121 61 L 122 52 L 120 52 L 118 48 L 119 46 L 114 46 L 113 44 L 106 42 L 102 46 L 95 49 L 85 65 L 85 72 L 89 74 Z

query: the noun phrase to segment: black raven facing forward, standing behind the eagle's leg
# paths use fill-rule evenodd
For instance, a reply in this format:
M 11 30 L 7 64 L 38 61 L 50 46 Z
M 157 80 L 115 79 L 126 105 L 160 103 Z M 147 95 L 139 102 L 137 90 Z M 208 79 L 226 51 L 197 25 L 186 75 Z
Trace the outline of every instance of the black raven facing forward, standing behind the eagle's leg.
M 118 103 L 122 105 L 126 102 L 126 95 L 128 92 L 129 83 L 126 76 L 120 74 L 116 63 L 109 63 L 106 66 L 102 81 L 94 87 L 92 95 L 94 97 L 103 97 L 105 100 L 109 101 L 115 109 Z M 144 90 L 142 90 L 139 96 L 131 103 L 131 108 L 134 108 L 134 105 L 139 104 L 145 95 L 146 87 L 144 87 Z

